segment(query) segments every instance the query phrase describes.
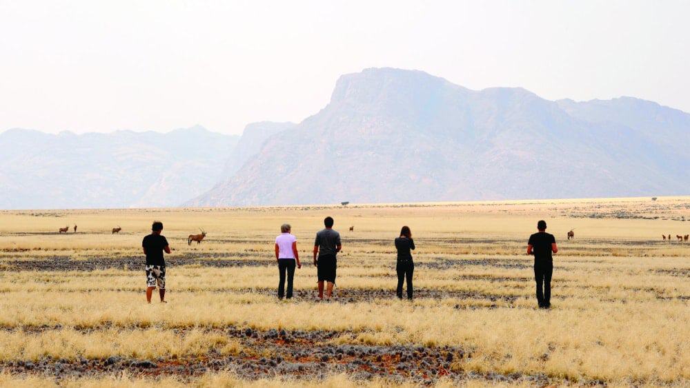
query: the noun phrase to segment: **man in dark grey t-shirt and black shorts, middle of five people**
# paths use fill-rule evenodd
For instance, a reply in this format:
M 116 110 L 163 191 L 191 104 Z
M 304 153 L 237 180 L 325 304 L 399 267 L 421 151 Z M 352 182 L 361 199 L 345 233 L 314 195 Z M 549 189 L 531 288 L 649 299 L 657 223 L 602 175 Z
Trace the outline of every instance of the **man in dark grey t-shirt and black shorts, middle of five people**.
M 326 229 L 317 232 L 314 242 L 314 265 L 317 267 L 319 276 L 319 299 L 324 298 L 324 281 L 328 283 L 326 298 L 331 298 L 333 295 L 335 269 L 337 267 L 335 255 L 342 249 L 340 234 L 333 230 L 333 218 L 326 217 L 324 225 Z

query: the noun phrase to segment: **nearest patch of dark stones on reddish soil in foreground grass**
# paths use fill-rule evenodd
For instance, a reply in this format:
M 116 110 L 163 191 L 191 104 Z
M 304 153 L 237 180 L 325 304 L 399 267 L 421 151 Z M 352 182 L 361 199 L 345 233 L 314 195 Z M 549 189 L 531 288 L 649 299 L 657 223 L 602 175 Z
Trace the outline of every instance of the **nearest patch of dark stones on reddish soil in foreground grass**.
M 527 382 L 531 385 L 549 383 L 549 378 L 544 375 L 482 375 L 466 372 L 462 369 L 462 361 L 473 354 L 460 347 L 334 345 L 333 338 L 342 334 L 335 331 L 256 331 L 228 327 L 222 332 L 238 339 L 244 350 L 237 356 L 222 356 L 212 351 L 203 356 L 161 357 L 154 360 L 120 356 L 76 360 L 41 358 L 0 363 L 0 371 L 13 375 L 52 376 L 56 379 L 109 376 L 126 371 L 130 376 L 178 376 L 184 380 L 209 371 L 233 371 L 240 378 L 248 380 L 266 376 L 312 379 L 346 373 L 357 380 L 379 377 L 419 384 L 431 384 L 442 376 L 457 382 L 482 378 L 495 382 Z M 266 354 L 270 356 L 262 356 Z

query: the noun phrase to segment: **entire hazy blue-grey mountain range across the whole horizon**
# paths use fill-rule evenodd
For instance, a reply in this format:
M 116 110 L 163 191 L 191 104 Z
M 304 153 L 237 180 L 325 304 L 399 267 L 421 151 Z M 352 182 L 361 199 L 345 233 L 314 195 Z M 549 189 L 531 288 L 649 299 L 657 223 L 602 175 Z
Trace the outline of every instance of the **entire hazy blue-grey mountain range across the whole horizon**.
M 341 76 L 301 123 L 0 133 L 0 208 L 168 207 L 689 194 L 690 114 L 549 101 L 416 70 Z

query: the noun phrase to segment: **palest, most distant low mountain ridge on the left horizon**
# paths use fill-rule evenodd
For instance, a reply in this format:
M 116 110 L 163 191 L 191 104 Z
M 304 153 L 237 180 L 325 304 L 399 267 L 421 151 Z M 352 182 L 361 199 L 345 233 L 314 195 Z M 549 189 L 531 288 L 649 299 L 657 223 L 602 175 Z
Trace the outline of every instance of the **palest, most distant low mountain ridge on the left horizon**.
M 169 207 L 223 177 L 237 136 L 158 132 L 0 134 L 0 208 Z

